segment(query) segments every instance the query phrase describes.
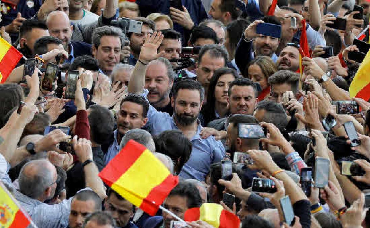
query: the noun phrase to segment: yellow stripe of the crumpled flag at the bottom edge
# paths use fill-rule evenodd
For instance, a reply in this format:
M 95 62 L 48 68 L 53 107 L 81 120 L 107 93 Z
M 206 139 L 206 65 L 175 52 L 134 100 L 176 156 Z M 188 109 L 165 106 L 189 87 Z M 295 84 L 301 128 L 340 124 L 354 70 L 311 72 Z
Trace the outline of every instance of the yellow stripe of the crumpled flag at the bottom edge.
M 223 207 L 220 204 L 203 204 L 199 208 L 199 220 L 206 221 L 218 228 L 222 210 Z

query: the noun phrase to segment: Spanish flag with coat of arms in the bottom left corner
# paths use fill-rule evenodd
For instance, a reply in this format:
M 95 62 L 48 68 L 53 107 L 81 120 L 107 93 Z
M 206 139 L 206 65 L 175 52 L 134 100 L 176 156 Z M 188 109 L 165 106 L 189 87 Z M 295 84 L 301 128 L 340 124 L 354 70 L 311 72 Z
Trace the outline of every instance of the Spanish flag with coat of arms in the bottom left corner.
M 0 181 L 0 227 L 26 228 L 31 220 Z

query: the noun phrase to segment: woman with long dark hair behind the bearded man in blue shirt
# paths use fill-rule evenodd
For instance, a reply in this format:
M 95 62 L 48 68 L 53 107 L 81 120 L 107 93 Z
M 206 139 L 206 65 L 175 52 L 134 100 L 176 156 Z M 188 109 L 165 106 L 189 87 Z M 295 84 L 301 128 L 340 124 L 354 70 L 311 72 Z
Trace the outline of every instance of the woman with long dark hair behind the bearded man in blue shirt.
M 203 105 L 202 115 L 204 126 L 215 119 L 224 118 L 228 114 L 229 84 L 238 78 L 238 73 L 231 68 L 217 69 L 209 82 L 207 103 Z

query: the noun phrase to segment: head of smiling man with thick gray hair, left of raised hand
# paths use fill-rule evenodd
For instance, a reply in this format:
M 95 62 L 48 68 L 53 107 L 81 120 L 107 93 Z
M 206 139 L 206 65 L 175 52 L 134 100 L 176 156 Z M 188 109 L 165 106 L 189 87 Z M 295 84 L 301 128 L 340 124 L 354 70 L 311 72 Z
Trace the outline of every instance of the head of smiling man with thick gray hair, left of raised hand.
M 92 34 L 92 56 L 98 60 L 99 71 L 112 75 L 113 68 L 120 62 L 125 35 L 120 28 L 102 26 Z

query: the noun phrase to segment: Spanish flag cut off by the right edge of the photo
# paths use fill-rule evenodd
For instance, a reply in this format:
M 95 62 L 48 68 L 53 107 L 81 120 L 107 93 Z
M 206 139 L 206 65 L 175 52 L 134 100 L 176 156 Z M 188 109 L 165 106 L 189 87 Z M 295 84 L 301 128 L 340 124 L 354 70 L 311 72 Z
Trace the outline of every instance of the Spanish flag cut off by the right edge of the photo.
M 351 98 L 362 98 L 369 101 L 370 98 L 370 51 L 367 52 L 359 69 L 354 75 L 354 78 L 349 86 L 349 95 Z

